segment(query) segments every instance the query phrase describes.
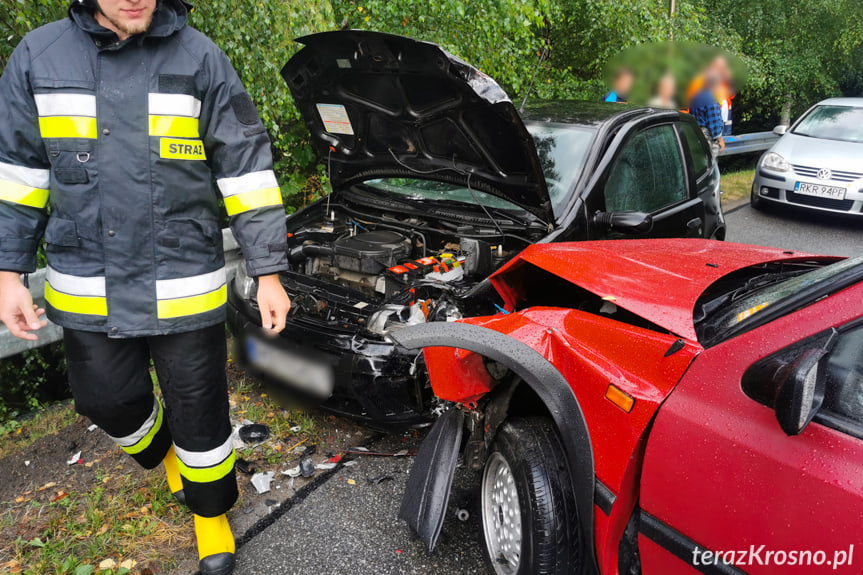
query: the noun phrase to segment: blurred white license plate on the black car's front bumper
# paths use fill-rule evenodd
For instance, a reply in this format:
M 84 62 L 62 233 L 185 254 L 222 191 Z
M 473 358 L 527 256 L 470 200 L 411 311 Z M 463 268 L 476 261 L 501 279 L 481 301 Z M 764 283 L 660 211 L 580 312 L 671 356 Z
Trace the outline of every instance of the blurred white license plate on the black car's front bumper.
M 253 367 L 294 389 L 320 399 L 333 394 L 333 368 L 326 363 L 255 338 L 246 340 L 246 357 Z

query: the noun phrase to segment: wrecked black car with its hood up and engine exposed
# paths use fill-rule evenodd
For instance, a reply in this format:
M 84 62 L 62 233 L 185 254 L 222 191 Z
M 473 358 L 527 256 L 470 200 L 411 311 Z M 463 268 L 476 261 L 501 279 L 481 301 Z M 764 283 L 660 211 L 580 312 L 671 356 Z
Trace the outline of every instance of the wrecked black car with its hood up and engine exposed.
M 725 236 L 719 172 L 686 114 L 590 102 L 520 113 L 434 44 L 359 31 L 300 42 L 282 75 L 333 191 L 288 217 L 281 337 L 261 335 L 242 269 L 229 324 L 251 368 L 329 410 L 430 421 L 422 360 L 388 334 L 494 313 L 488 276 L 529 244 Z

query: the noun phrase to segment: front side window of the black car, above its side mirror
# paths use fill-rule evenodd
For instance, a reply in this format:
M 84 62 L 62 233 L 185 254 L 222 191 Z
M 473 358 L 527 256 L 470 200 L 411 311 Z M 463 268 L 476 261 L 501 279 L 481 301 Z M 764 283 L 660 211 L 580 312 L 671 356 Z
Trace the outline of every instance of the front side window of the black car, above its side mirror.
M 674 128 L 636 134 L 625 146 L 605 184 L 608 212 L 654 213 L 686 199 L 686 173 Z

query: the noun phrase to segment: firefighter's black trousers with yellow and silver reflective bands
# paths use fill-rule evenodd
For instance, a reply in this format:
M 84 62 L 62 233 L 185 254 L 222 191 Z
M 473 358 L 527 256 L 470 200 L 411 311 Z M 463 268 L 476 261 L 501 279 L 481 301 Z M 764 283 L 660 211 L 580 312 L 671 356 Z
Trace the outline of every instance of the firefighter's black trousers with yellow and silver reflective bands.
M 147 469 L 173 443 L 192 511 L 215 517 L 231 508 L 238 494 L 223 325 L 132 339 L 67 329 L 64 343 L 78 413 Z

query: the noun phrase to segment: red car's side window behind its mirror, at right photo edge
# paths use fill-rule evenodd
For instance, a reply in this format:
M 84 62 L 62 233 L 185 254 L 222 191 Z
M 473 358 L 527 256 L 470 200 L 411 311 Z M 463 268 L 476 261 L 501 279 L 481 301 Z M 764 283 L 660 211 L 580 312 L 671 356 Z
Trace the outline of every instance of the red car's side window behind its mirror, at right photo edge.
M 863 325 L 839 336 L 827 357 L 826 370 L 821 412 L 863 430 Z M 829 421 L 822 423 L 830 425 Z

